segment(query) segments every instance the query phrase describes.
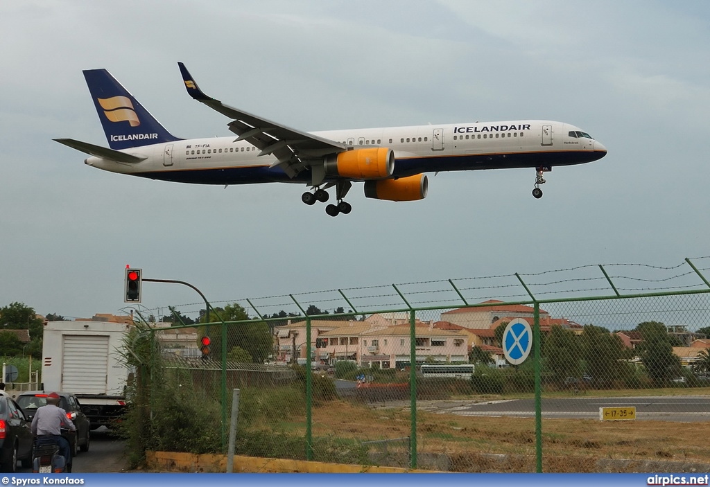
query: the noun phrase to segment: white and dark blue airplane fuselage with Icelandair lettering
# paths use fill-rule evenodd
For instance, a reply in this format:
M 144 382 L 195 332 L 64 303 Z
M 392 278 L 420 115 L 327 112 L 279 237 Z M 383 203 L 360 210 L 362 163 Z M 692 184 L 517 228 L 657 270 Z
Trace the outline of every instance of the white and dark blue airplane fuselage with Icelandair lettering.
M 553 121 L 475 122 L 315 132 L 354 149 L 388 147 L 395 154 L 393 177 L 439 171 L 553 167 L 581 164 L 606 155 L 606 147 L 568 123 Z M 583 135 L 583 136 L 581 136 Z M 196 184 L 298 182 L 310 171 L 288 177 L 276 158 L 236 136 L 177 140 L 124 150 L 146 157 L 122 163 L 89 157 L 86 164 L 122 174 Z

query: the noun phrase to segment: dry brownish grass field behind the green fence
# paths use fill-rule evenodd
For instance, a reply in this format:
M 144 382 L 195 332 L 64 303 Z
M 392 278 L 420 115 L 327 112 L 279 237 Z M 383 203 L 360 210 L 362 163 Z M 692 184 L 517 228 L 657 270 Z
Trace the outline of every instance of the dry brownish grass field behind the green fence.
M 588 394 L 638 396 L 640 392 Z M 644 396 L 667 395 L 662 389 L 644 392 Z M 402 406 L 371 408 L 337 401 L 313 411 L 314 437 L 374 441 L 408 437 L 410 433 L 410 411 Z M 543 419 L 543 470 L 598 471 L 599 459 L 706 464 L 710 459 L 709 434 L 709 422 Z M 532 418 L 458 416 L 418 410 L 417 453 L 445 454 L 452 461 L 450 467 L 457 471 L 535 471 L 535 422 Z M 502 467 L 491 454 L 507 454 L 515 461 L 508 459 L 506 467 Z

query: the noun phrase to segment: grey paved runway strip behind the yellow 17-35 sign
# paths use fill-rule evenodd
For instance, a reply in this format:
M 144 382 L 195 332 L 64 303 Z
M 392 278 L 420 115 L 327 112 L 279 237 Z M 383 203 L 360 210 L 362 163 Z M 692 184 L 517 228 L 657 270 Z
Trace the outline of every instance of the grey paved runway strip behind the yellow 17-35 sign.
M 640 420 L 710 421 L 709 396 L 653 396 L 623 398 L 544 398 L 543 418 L 599 418 L 599 408 L 635 406 Z M 427 401 L 419 408 L 442 414 L 463 416 L 535 416 L 534 399 L 508 399 L 472 403 Z

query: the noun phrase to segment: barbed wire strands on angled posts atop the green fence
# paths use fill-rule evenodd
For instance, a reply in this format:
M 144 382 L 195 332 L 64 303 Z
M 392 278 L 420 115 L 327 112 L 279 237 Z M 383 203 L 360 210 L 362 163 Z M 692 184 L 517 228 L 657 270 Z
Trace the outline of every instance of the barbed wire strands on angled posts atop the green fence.
M 706 287 L 704 278 L 698 276 L 698 274 L 710 270 L 709 266 L 699 267 L 693 266 L 694 269 L 687 272 L 679 272 L 672 274 L 670 276 L 649 276 L 649 275 L 633 275 L 635 270 L 642 273 L 644 272 L 656 272 L 656 273 L 666 273 L 677 271 L 682 267 L 689 265 L 690 261 L 705 261 L 710 259 L 710 256 L 703 257 L 693 257 L 692 259 L 687 259 L 686 262 L 682 262 L 677 265 L 670 267 L 656 266 L 651 264 L 633 264 L 633 263 L 616 263 L 616 264 L 585 264 L 577 267 L 569 267 L 566 269 L 553 269 L 543 272 L 535 273 L 515 273 L 515 274 L 494 274 L 491 276 L 472 276 L 472 277 L 461 277 L 457 279 L 439 279 L 439 280 L 427 280 L 427 281 L 411 281 L 407 283 L 400 284 L 379 284 L 372 286 L 354 286 L 346 287 L 341 289 L 329 289 L 322 291 L 302 291 L 300 293 L 289 293 L 289 294 L 275 294 L 272 296 L 262 296 L 258 298 L 241 298 L 241 299 L 224 299 L 220 301 L 212 301 L 213 306 L 220 306 L 222 304 L 228 303 L 240 303 L 245 309 L 252 309 L 256 313 L 263 315 L 264 317 L 271 318 L 268 316 L 269 313 L 266 310 L 278 310 L 288 311 L 295 316 L 300 316 L 300 308 L 309 308 L 310 306 L 315 306 L 316 308 L 324 307 L 342 307 L 351 306 L 347 301 L 355 305 L 357 308 L 357 313 L 363 311 L 366 313 L 368 310 L 382 309 L 388 307 L 404 307 L 405 302 L 403 302 L 403 297 L 399 295 L 402 292 L 406 301 L 412 305 L 417 306 L 435 306 L 437 304 L 444 304 L 446 306 L 460 307 L 465 306 L 466 303 L 476 303 L 488 301 L 491 299 L 496 299 L 498 301 L 510 301 L 518 300 L 525 301 L 530 299 L 530 293 L 535 296 L 535 299 L 540 299 L 545 296 L 546 300 L 550 299 L 550 296 L 587 296 L 589 293 L 606 293 L 610 294 L 612 291 L 612 284 L 616 291 L 623 293 L 653 293 L 662 291 L 699 291 Z M 586 275 L 586 276 L 570 276 L 567 279 L 554 279 L 554 280 L 544 280 L 540 279 L 544 276 L 559 275 L 562 273 L 589 273 L 601 272 L 601 269 L 613 269 L 616 271 L 613 274 L 608 274 L 605 270 L 605 275 Z M 619 269 L 627 269 L 628 272 L 620 273 Z M 635 269 L 629 271 L 628 269 Z M 696 270 L 697 269 L 697 270 Z M 698 276 L 702 278 L 703 282 L 681 282 L 682 279 L 689 279 L 690 276 Z M 532 278 L 531 282 L 530 281 Z M 499 281 L 501 279 L 508 279 L 510 283 L 501 284 Z M 476 281 L 474 286 L 466 286 L 464 283 L 471 281 Z M 477 284 L 479 282 L 486 282 L 488 284 Z M 589 286 L 591 283 L 597 283 L 599 281 L 606 281 L 606 286 Z M 611 282 L 610 282 L 611 281 Z M 619 282 L 621 281 L 621 282 Z M 464 286 L 457 286 L 460 283 Z M 524 286 L 523 286 L 524 283 Z M 586 285 L 585 285 L 586 283 Z M 622 285 L 616 285 L 616 284 Z M 626 283 L 626 286 L 623 286 Z M 628 286 L 630 283 L 643 283 L 648 284 L 648 286 Z M 474 284 L 471 282 L 471 284 Z M 661 285 L 663 284 L 663 285 Z M 666 285 L 668 284 L 668 285 Z M 672 284 L 672 285 L 670 285 Z M 527 289 L 525 289 L 527 287 Z M 422 289 L 423 288 L 423 289 Z M 381 292 L 375 293 L 373 290 L 380 290 Z M 396 289 L 398 292 L 393 292 Z M 513 290 L 520 290 L 519 293 L 515 293 Z M 532 290 L 532 291 L 528 291 Z M 503 291 L 503 292 L 501 292 Z M 507 291 L 507 292 L 506 292 Z M 512 293 L 510 291 L 513 291 Z M 484 294 L 484 292 L 486 292 Z M 327 296 L 327 294 L 331 296 Z M 332 293 L 337 293 L 336 296 L 332 296 Z M 362 294 L 361 294 L 362 293 Z M 451 298 L 444 298 L 439 296 L 437 298 L 436 294 L 449 293 Z M 344 298 L 346 296 L 346 298 Z M 623 296 L 622 296 L 623 297 Z M 463 300 L 462 300 L 463 298 Z M 465 302 L 464 302 L 465 301 Z M 246 303 L 252 303 L 251 306 L 247 306 Z M 175 310 L 181 310 L 180 313 L 185 315 L 185 313 L 202 313 L 204 312 L 204 303 L 183 303 L 175 306 L 170 306 Z M 197 307 L 197 310 L 195 310 Z M 143 313 L 159 313 L 160 310 L 169 308 L 168 306 L 160 306 L 156 308 L 141 308 Z M 188 310 L 185 310 L 187 308 Z M 296 310 L 297 313 L 293 313 Z M 325 311 L 327 313 L 327 311 Z M 276 315 L 278 313 L 272 313 Z M 293 316 L 287 316 L 286 318 L 293 318 Z

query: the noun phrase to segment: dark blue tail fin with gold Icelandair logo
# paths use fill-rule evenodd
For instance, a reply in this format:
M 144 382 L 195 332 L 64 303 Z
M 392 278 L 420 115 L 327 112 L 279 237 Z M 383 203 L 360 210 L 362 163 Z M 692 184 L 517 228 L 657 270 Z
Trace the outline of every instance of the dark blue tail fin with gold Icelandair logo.
M 170 135 L 106 69 L 84 70 L 84 78 L 111 149 L 180 140 Z

